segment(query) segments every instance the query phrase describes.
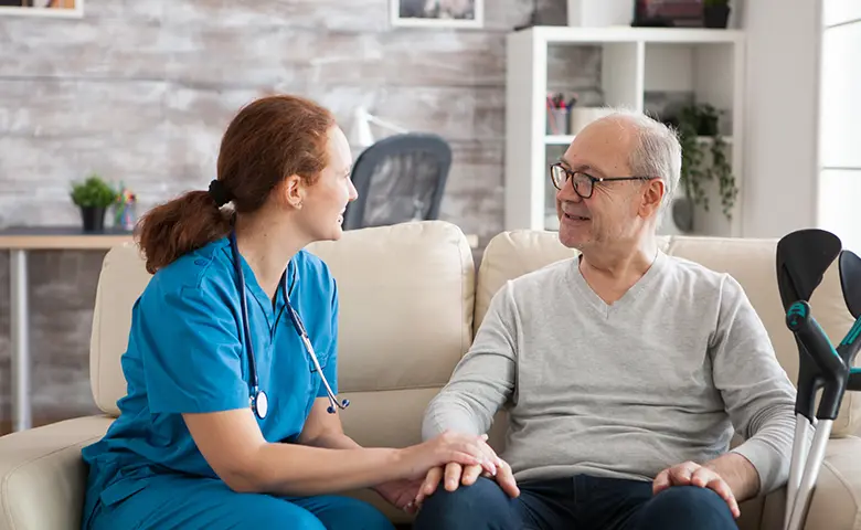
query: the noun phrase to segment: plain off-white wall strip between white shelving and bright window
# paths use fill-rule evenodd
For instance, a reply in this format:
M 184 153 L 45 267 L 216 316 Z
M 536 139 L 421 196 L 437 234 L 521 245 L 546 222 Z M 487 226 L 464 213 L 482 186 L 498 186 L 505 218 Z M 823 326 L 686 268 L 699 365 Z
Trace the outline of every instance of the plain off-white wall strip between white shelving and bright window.
M 745 237 L 779 237 L 817 223 L 819 3 L 746 0 L 742 7 Z

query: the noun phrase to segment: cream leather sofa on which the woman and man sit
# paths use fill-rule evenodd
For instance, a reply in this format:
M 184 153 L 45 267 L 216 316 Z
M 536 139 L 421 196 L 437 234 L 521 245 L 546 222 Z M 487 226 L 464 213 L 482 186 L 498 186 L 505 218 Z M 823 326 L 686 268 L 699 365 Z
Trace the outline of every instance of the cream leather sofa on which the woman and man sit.
M 796 347 L 784 324 L 775 279 L 775 241 L 673 237 L 669 254 L 729 271 L 745 287 L 767 326 L 780 362 L 795 379 Z M 489 244 L 476 273 L 463 233 L 445 222 L 348 232 L 311 248 L 340 285 L 340 385 L 352 405 L 342 415 L 348 434 L 368 446 L 419 441 L 421 415 L 466 352 L 493 293 L 507 279 L 574 252 L 554 234 L 513 232 Z M 97 439 L 117 413 L 125 383 L 119 368 L 129 309 L 148 280 L 134 247 L 105 258 L 91 350 L 93 395 L 104 415 L 71 420 L 0 438 L 0 530 L 78 528 L 86 469 L 82 446 Z M 836 266 L 811 300 L 825 330 L 839 340 L 852 324 Z M 835 422 L 806 528 L 861 529 L 861 400 L 849 394 Z M 492 430 L 502 446 L 504 417 Z M 372 499 L 398 521 L 406 518 Z M 743 505 L 743 529 L 779 529 L 782 491 Z

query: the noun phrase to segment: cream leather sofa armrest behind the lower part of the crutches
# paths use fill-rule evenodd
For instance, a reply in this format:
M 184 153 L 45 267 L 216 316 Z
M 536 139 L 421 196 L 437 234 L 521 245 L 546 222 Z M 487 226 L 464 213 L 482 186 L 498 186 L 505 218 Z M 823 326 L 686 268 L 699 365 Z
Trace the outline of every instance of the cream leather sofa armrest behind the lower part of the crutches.
M 782 530 L 786 488 L 768 496 L 762 530 Z M 805 530 L 861 530 L 861 438 L 828 441 Z

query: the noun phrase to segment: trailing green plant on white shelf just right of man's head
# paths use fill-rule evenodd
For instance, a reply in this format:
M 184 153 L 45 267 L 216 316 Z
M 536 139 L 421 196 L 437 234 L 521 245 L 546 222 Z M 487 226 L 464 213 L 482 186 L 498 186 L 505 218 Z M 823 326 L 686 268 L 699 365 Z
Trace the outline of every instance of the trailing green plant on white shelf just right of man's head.
M 720 134 L 721 112 L 709 104 L 687 105 L 677 118 L 679 141 L 682 148 L 681 187 L 684 197 L 673 204 L 673 221 L 680 230 L 693 230 L 693 210 L 699 204 L 709 211 L 705 183 L 718 180 L 721 205 L 726 219 L 732 220 L 732 209 L 738 195 L 735 176 L 726 155 L 726 141 Z M 711 155 L 710 163 L 705 156 Z

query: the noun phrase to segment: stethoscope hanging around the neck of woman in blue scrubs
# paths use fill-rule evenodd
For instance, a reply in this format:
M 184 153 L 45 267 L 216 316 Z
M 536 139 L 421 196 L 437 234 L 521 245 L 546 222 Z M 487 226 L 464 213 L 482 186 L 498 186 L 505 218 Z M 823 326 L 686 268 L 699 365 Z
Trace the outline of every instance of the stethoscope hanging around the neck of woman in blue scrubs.
M 233 254 L 233 268 L 236 271 L 236 280 L 238 282 L 237 289 L 240 290 L 240 305 L 242 306 L 242 328 L 245 336 L 245 349 L 248 352 L 248 398 L 251 400 L 252 411 L 254 411 L 254 414 L 256 414 L 257 417 L 263 420 L 266 417 L 266 413 L 269 409 L 269 399 L 266 396 L 266 392 L 262 391 L 257 384 L 257 363 L 254 359 L 254 341 L 251 338 L 251 328 L 248 327 L 248 307 L 245 300 L 245 274 L 242 272 L 242 263 L 240 261 L 240 251 L 238 245 L 236 244 L 235 231 L 231 231 L 231 252 Z M 334 414 L 336 407 L 347 409 L 350 405 L 350 401 L 343 400 L 341 403 L 338 403 L 338 396 L 334 395 L 331 386 L 329 386 L 329 381 L 326 380 L 326 375 L 322 373 L 322 369 L 320 368 L 320 362 L 317 360 L 317 354 L 313 352 L 313 346 L 311 344 L 311 340 L 308 338 L 308 331 L 306 331 L 305 325 L 299 318 L 299 314 L 296 312 L 296 309 L 294 309 L 290 305 L 290 299 L 287 293 L 287 274 L 281 276 L 280 287 L 284 292 L 284 303 L 287 306 L 287 312 L 290 315 L 290 320 L 293 320 L 293 326 L 296 329 L 296 332 L 299 333 L 299 338 L 301 338 L 306 351 L 311 357 L 311 361 L 313 361 L 313 367 L 317 369 L 317 372 L 319 372 L 320 378 L 322 378 L 323 385 L 326 385 L 326 393 L 329 396 L 329 407 L 327 411 L 329 414 Z

